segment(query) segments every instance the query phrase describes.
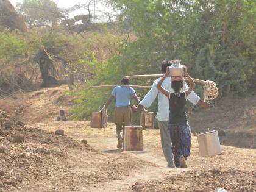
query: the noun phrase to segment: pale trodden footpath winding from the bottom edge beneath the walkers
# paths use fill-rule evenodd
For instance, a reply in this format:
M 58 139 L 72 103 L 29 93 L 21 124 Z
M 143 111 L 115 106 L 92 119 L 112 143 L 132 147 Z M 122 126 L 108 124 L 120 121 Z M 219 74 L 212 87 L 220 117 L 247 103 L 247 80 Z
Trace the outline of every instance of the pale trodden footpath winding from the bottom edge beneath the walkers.
M 124 191 L 125 188 L 132 186 L 134 183 L 149 182 L 164 178 L 166 176 L 173 176 L 180 172 L 186 171 L 182 169 L 170 169 L 166 168 L 166 161 L 163 156 L 158 156 L 150 148 L 144 146 L 142 152 L 127 152 L 116 149 L 116 137 L 111 137 L 100 143 L 93 143 L 93 140 L 88 140 L 91 146 L 96 149 L 101 149 L 104 153 L 124 153 L 133 157 L 140 158 L 144 162 L 148 162 L 149 165 L 145 168 L 138 170 L 135 174 L 131 174 L 127 177 L 122 177 L 121 180 L 113 180 L 112 182 L 101 183 L 101 185 L 91 188 L 82 188 L 81 191 Z

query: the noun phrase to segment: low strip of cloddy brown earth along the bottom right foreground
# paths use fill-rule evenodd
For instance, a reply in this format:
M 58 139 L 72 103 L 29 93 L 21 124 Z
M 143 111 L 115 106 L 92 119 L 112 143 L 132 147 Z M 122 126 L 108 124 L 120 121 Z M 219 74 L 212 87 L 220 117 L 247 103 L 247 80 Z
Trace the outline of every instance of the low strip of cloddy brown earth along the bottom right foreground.
M 204 192 L 216 191 L 218 188 L 234 192 L 253 192 L 256 188 L 256 171 L 233 169 L 227 171 L 217 169 L 208 172 L 188 171 L 154 182 L 137 182 L 129 190 Z

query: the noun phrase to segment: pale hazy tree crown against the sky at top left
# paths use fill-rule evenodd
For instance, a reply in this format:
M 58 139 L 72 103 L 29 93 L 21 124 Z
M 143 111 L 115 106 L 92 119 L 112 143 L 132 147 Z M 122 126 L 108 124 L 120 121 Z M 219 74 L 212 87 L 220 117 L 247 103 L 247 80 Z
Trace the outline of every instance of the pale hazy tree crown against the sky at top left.
M 23 0 L 16 8 L 29 27 L 52 26 L 60 19 L 60 9 L 53 0 Z

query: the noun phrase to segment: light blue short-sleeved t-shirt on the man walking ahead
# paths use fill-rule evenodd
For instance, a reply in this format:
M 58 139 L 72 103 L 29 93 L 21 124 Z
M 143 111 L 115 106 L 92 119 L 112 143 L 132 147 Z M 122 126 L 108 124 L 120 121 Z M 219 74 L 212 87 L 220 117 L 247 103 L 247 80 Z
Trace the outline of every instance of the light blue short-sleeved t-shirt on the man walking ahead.
M 135 91 L 132 87 L 116 86 L 111 94 L 116 98 L 116 107 L 127 107 L 130 106 L 130 96 Z

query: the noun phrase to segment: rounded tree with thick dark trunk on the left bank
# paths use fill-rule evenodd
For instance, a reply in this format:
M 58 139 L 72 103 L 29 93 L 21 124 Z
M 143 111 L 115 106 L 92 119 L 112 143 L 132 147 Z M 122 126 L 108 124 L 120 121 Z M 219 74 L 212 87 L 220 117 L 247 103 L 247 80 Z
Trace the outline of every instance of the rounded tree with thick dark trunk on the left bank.
M 79 38 L 57 31 L 43 32 L 32 40 L 35 63 L 38 64 L 43 82 L 41 87 L 59 85 L 57 68 L 72 69 L 80 57 Z M 61 64 L 60 64 L 61 63 Z

